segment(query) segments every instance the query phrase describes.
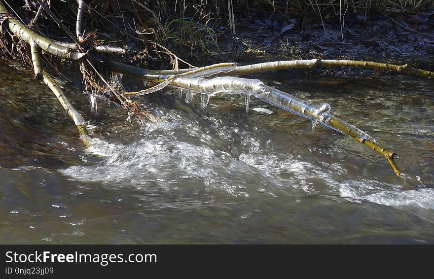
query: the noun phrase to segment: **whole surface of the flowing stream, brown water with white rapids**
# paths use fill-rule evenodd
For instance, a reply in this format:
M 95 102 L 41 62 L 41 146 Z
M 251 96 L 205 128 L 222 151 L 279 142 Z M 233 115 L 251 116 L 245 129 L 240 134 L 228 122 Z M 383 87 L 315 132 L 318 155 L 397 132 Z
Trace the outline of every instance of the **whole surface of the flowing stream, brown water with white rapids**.
M 398 153 L 399 179 L 373 150 L 252 97 L 165 89 L 133 125 L 65 89 L 92 145 L 45 85 L 0 66 L 0 243 L 434 244 L 433 80 L 255 76 L 311 100 Z

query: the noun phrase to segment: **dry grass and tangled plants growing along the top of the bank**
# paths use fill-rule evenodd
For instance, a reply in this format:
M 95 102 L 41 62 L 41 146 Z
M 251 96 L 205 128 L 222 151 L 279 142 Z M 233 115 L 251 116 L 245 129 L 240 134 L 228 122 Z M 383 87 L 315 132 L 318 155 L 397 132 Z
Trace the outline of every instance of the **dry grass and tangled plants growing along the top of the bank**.
M 44 2 L 49 4 L 65 26 L 75 29 L 77 0 Z M 54 40 L 72 42 L 59 25 L 39 8 L 38 1 L 6 0 L 5 3 L 37 33 L 46 34 Z M 83 3 L 86 5 L 82 39 L 87 44 L 95 41 L 117 42 L 140 49 L 141 53 L 136 55 L 134 61 L 148 68 L 167 68 L 168 65 L 162 64 L 162 61 L 176 64 L 171 52 L 185 61 L 194 60 L 198 64 L 220 62 L 224 57 L 231 57 L 231 51 L 240 48 L 240 44 L 243 44 L 242 49 L 246 48 L 253 55 L 273 52 L 271 48 L 261 49 L 255 45 L 269 44 L 268 39 L 265 42 L 261 39 L 263 36 L 289 35 L 291 39 L 295 37 L 292 35 L 294 32 L 298 35 L 309 26 L 319 31 L 327 26 L 334 27 L 341 33 L 336 39 L 345 41 L 349 37 L 345 31 L 351 31 L 352 27 L 348 24 L 351 25 L 354 18 L 370 22 L 381 17 L 400 25 L 402 17 L 429 14 L 428 24 L 434 24 L 434 0 L 84 0 Z M 420 25 L 419 22 L 414 24 Z M 412 28 L 404 25 L 404 28 Z M 273 32 L 267 33 L 269 30 Z M 234 36 L 238 40 L 234 40 Z M 301 40 L 305 39 L 309 37 L 303 35 Z M 282 40 L 288 41 L 288 36 Z M 287 59 L 314 58 L 306 57 L 306 50 L 296 53 L 299 44 L 298 40 L 290 44 L 292 56 L 287 56 Z M 309 47 L 312 48 L 311 45 Z M 278 47 L 271 55 L 284 51 Z M 236 56 L 243 55 L 234 53 Z

